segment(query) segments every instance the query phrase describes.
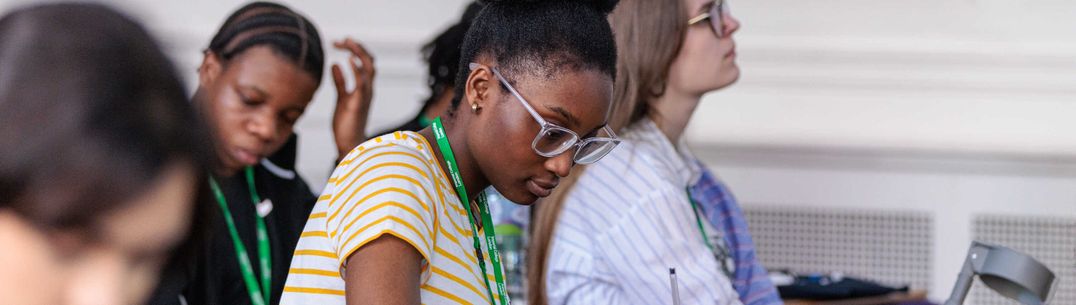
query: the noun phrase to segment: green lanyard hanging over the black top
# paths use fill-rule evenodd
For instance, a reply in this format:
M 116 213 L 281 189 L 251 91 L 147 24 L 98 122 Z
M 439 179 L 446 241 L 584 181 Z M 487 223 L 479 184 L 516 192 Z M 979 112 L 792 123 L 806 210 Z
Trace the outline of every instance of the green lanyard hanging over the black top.
M 272 268 L 269 261 L 269 233 L 266 230 L 266 221 L 257 213 L 257 205 L 261 202 L 258 192 L 254 188 L 254 168 L 246 167 L 246 185 L 251 190 L 251 199 L 254 202 L 258 226 L 258 262 L 261 269 L 261 287 L 254 277 L 254 267 L 251 265 L 251 258 L 246 254 L 246 247 L 239 239 L 239 231 L 236 230 L 236 221 L 231 219 L 231 210 L 228 209 L 228 202 L 221 192 L 221 185 L 212 176 L 209 177 L 209 184 L 213 188 L 213 195 L 216 203 L 221 204 L 221 211 L 224 213 L 224 221 L 228 224 L 228 232 L 231 233 L 231 241 L 236 246 L 236 257 L 239 259 L 239 269 L 243 273 L 243 281 L 246 282 L 246 291 L 251 293 L 251 303 L 254 305 L 267 305 L 269 302 L 269 285 L 272 282 Z

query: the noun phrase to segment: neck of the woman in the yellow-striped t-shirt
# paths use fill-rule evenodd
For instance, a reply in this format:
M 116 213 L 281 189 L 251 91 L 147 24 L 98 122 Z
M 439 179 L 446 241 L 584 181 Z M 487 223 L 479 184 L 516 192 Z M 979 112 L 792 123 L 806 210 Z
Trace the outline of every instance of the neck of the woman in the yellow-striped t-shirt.
M 467 189 L 467 198 L 475 200 L 479 193 L 490 186 L 490 181 L 482 176 L 475 156 L 467 149 L 467 130 L 463 128 L 465 124 L 462 124 L 466 120 L 462 116 L 466 116 L 467 114 L 456 112 L 455 115 L 455 117 L 442 116 L 441 123 L 444 124 L 444 133 L 448 135 L 449 144 L 452 147 L 452 154 L 455 156 L 456 166 L 459 168 L 459 177 L 463 178 L 464 186 Z M 449 177 L 449 180 L 452 180 L 451 169 L 449 169 L 449 165 L 444 161 L 447 156 L 441 154 L 437 137 L 434 135 L 434 127 L 426 127 L 420 130 L 419 134 L 425 137 L 433 145 L 434 155 L 437 157 L 438 163 L 440 163 L 441 168 L 445 170 L 444 175 Z M 450 182 L 454 183 L 454 181 Z M 455 190 L 454 184 L 450 185 L 453 185 L 452 189 Z M 464 203 L 464 205 L 467 207 L 471 206 L 470 203 Z

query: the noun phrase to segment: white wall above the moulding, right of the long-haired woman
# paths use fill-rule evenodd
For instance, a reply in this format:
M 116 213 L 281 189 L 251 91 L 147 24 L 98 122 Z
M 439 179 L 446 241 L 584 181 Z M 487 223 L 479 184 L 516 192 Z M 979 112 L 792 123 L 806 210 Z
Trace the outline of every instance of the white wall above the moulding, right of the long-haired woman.
M 1076 153 L 1072 1 L 733 3 L 742 81 L 708 99 L 699 141 Z

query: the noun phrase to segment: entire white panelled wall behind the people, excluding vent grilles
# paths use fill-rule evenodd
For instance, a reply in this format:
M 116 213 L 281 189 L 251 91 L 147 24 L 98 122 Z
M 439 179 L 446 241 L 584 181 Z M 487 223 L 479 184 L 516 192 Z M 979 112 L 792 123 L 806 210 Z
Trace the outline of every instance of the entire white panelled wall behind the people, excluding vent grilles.
M 5 1 L 0 11 L 15 3 Z M 199 50 L 242 3 L 110 2 L 146 22 L 188 81 Z M 372 47 L 371 129 L 419 107 L 419 45 L 464 5 L 284 2 L 325 39 L 350 34 Z M 931 212 L 934 300 L 951 289 L 974 214 L 1076 218 L 1076 2 L 731 2 L 744 23 L 744 75 L 705 98 L 688 137 L 745 205 Z M 335 154 L 330 84 L 298 126 L 299 168 L 315 188 Z

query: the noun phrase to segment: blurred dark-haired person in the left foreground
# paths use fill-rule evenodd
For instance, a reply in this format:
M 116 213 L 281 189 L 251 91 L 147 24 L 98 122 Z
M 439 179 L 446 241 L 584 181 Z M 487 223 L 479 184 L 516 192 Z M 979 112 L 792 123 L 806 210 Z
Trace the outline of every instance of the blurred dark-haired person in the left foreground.
M 130 18 L 0 18 L 0 304 L 138 304 L 188 238 L 208 136 Z

